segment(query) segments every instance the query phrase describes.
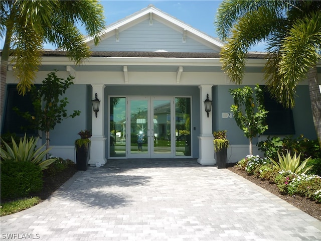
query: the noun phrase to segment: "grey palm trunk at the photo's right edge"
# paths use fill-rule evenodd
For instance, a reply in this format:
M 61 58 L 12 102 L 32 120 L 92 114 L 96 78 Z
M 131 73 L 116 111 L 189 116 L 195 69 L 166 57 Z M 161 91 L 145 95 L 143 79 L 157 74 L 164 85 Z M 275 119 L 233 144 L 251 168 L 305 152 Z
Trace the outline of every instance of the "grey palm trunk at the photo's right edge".
M 321 148 L 321 93 L 317 80 L 316 66 L 309 69 L 309 72 L 307 73 L 307 79 L 309 81 L 309 93 L 314 128 L 319 141 L 319 146 Z

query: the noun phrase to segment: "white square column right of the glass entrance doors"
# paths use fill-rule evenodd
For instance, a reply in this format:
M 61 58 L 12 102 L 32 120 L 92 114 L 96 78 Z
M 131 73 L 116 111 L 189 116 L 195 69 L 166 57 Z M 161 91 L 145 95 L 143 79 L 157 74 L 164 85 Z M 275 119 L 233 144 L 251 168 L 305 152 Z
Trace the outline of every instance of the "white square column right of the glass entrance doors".
M 202 84 L 200 88 L 200 122 L 201 122 L 201 131 L 199 138 L 199 150 L 200 157 L 197 159 L 198 163 L 202 165 L 214 165 L 214 145 L 213 145 L 213 133 L 212 133 L 212 112 L 207 113 L 204 107 L 204 100 L 206 99 L 207 94 L 209 94 L 209 99 L 212 100 L 212 86 L 211 84 Z

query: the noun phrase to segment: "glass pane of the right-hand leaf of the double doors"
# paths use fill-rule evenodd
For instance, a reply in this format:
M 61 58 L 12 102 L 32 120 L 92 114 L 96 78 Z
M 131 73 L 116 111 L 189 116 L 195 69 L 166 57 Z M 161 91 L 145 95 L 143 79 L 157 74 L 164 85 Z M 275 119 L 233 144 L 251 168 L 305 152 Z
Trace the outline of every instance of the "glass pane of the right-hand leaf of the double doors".
M 168 98 L 152 98 L 152 130 L 153 137 L 152 155 L 172 155 L 172 101 Z M 165 156 L 164 156 L 165 157 Z

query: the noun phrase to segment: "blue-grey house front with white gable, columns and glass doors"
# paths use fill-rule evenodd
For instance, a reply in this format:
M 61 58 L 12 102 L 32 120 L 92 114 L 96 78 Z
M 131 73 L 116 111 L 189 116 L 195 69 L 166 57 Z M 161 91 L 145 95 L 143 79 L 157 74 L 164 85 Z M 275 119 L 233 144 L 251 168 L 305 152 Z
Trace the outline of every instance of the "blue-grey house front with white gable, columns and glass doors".
M 92 132 L 91 165 L 135 158 L 194 158 L 213 165 L 213 131 L 217 130 L 228 131 L 229 162 L 248 155 L 248 139 L 230 111 L 229 89 L 264 85 L 264 54 L 249 54 L 243 85 L 232 84 L 221 70 L 219 52 L 224 43 L 153 6 L 107 26 L 98 46 L 91 39 L 85 41 L 92 56 L 81 65 L 71 62 L 64 51 L 43 55 L 36 83 L 54 70 L 62 78 L 74 76 L 74 85 L 66 92 L 68 109 L 81 111 L 51 131 L 51 154 L 75 160 L 77 133 L 86 129 Z M 320 75 L 320 63 L 317 67 Z M 6 113 L 10 113 L 14 96 L 10 91 L 17 84 L 12 71 L 7 84 Z M 97 117 L 91 103 L 96 94 Z M 204 108 L 207 95 L 212 100 L 209 115 Z M 293 109 L 273 104 L 270 108 L 272 124 L 266 136 L 303 134 L 316 139 L 307 82 L 297 87 Z M 12 131 L 8 118 L 7 114 L 3 130 Z M 254 145 L 266 136 L 254 138 Z M 254 153 L 259 154 L 256 146 Z

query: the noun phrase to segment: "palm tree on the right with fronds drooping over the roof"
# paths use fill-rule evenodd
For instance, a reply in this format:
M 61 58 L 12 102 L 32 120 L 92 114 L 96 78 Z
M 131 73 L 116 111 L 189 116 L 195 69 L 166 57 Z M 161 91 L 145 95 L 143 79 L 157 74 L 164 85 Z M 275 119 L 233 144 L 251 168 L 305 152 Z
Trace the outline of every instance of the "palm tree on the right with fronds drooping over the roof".
M 223 70 L 242 83 L 248 49 L 267 43 L 265 80 L 271 95 L 294 106 L 297 84 L 306 77 L 314 127 L 321 146 L 321 93 L 316 64 L 321 55 L 321 1 L 224 1 L 215 24 L 222 48 Z

